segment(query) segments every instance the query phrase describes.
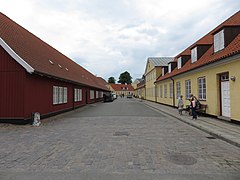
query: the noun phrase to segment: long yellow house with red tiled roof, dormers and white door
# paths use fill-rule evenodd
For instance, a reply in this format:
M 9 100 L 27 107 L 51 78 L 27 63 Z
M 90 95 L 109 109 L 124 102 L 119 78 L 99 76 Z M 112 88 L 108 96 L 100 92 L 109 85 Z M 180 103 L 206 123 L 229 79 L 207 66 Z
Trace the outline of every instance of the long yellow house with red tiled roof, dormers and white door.
M 240 121 L 240 12 L 192 44 L 168 64 L 156 81 L 157 102 L 177 106 L 190 94 L 206 113 Z

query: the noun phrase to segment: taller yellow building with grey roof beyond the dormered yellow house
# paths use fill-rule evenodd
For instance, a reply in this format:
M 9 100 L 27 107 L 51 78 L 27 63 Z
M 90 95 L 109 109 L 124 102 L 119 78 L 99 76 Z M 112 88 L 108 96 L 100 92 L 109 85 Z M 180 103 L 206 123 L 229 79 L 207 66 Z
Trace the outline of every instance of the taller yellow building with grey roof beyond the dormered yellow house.
M 145 68 L 145 93 L 146 99 L 156 101 L 155 81 L 162 74 L 162 67 L 166 67 L 168 62 L 173 61 L 171 57 L 152 57 L 148 58 Z

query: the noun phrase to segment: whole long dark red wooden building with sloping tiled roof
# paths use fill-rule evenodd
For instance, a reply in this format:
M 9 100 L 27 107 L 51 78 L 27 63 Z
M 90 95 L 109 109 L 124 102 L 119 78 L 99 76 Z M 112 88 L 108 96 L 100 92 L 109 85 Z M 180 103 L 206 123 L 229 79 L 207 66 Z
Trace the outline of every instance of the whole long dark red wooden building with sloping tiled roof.
M 0 13 L 0 122 L 101 101 L 104 80 Z

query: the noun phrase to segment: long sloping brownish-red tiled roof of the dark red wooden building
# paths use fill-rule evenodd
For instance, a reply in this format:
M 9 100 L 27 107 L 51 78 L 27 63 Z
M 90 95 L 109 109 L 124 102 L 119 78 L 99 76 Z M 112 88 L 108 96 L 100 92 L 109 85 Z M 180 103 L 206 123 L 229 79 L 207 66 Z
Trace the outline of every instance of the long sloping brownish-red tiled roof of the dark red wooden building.
M 0 45 L 29 73 L 108 90 L 92 73 L 0 13 Z

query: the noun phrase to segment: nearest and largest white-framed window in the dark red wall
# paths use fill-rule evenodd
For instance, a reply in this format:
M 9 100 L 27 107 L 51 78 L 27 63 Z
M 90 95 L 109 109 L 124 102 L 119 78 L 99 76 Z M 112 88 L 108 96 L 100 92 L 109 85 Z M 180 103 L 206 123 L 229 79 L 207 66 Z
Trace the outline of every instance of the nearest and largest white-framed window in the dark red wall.
M 53 104 L 67 103 L 67 87 L 53 86 Z

